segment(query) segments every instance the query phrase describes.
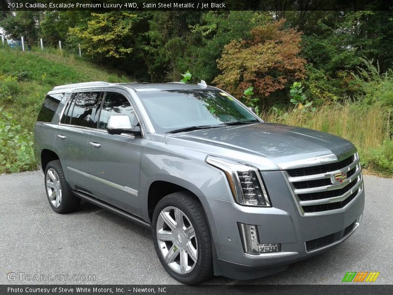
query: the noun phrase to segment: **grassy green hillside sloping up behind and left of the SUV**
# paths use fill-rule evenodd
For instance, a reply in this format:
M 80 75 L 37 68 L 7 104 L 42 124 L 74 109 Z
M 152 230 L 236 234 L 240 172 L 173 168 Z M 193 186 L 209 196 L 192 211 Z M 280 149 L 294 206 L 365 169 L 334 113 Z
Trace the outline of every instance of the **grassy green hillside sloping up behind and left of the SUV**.
M 64 52 L 0 46 L 0 174 L 36 169 L 32 130 L 45 94 L 57 85 L 88 81 L 129 80 Z

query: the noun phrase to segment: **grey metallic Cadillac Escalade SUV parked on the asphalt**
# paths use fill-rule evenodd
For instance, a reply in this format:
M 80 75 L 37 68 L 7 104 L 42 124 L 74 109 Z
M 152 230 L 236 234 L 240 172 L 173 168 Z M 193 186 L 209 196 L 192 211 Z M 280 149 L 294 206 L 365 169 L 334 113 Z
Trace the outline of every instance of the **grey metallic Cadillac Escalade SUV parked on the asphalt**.
M 264 122 L 203 81 L 55 87 L 34 140 L 53 210 L 84 199 L 151 229 L 162 265 L 185 284 L 285 270 L 362 220 L 350 142 Z

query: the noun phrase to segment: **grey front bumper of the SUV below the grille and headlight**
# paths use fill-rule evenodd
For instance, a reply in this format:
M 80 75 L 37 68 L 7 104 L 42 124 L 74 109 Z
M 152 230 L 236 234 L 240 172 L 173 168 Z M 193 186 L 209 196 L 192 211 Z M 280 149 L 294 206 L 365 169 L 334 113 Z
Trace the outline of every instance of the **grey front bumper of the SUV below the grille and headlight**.
M 364 190 L 343 212 L 301 216 L 281 172 L 262 173 L 273 207 L 245 207 L 203 198 L 216 250 L 215 274 L 252 279 L 285 270 L 293 262 L 322 253 L 352 235 L 361 222 Z M 204 204 L 203 204 L 204 203 Z M 257 226 L 260 243 L 281 243 L 281 252 L 244 253 L 237 223 Z M 353 227 L 352 227 L 353 226 Z M 307 251 L 306 241 L 334 236 L 328 245 Z

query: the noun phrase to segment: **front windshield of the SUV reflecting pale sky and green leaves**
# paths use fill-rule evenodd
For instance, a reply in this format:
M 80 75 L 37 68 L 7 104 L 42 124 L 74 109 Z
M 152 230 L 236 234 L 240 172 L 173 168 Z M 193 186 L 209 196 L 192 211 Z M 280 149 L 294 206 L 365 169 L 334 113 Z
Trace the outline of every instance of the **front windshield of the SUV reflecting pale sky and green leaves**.
M 259 122 L 253 113 L 220 90 L 141 91 L 138 96 L 157 132 L 191 126 Z

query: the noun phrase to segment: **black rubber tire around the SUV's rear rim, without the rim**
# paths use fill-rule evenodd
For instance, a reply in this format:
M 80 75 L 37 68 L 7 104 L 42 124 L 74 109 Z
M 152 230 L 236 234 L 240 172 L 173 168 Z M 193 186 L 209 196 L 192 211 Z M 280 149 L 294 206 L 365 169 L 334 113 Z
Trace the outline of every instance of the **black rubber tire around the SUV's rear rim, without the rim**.
M 59 207 L 56 207 L 52 201 L 50 200 L 50 196 L 48 193 L 48 187 L 47 187 L 47 175 L 48 171 L 50 169 L 53 169 L 59 179 L 60 187 L 61 187 L 61 202 Z M 79 207 L 79 204 L 81 203 L 81 199 L 78 197 L 74 196 L 71 192 L 71 189 L 68 185 L 67 180 L 64 177 L 64 172 L 63 168 L 61 167 L 60 160 L 55 160 L 51 161 L 48 163 L 45 169 L 45 177 L 44 177 L 44 183 L 45 183 L 45 191 L 46 195 L 49 201 L 49 204 L 51 205 L 52 209 L 59 214 L 64 214 L 68 212 L 72 212 L 76 210 Z

